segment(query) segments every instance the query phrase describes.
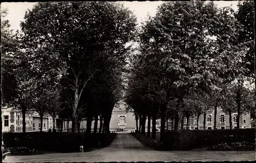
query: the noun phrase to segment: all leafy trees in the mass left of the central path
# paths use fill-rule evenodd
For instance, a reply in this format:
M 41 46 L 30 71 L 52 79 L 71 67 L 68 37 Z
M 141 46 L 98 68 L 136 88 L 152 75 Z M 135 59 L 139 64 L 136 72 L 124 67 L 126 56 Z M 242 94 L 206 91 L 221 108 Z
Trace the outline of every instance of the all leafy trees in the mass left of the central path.
M 72 132 L 79 131 L 81 118 L 90 132 L 100 116 L 100 130 L 108 132 L 123 94 L 135 15 L 119 3 L 49 2 L 37 3 L 24 18 L 16 33 L 8 21 L 1 25 L 3 106 L 22 112 L 23 132 L 29 111 L 41 121 L 47 113 L 71 119 Z

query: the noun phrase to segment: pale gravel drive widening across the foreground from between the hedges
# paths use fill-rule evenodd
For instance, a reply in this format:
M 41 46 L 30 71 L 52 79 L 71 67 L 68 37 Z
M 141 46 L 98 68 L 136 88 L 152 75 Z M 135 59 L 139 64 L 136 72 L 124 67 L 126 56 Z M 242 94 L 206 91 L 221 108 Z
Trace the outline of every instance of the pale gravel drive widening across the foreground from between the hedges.
M 246 161 L 254 151 L 155 151 L 130 133 L 118 133 L 109 147 L 90 152 L 6 156 L 4 162 Z

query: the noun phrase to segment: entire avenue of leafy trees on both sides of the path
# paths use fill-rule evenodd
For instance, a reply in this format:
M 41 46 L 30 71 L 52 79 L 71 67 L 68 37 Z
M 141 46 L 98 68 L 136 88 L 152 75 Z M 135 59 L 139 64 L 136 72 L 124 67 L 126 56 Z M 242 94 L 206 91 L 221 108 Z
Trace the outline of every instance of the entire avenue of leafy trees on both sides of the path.
M 109 132 L 120 100 L 134 110 L 142 134 L 146 119 L 152 122 L 153 139 L 156 119 L 161 133 L 166 120 L 188 129 L 180 122 L 200 115 L 205 128 L 218 107 L 238 113 L 239 128 L 240 115 L 254 110 L 254 2 L 238 7 L 165 2 L 138 26 L 118 2 L 37 3 L 20 31 L 1 21 L 2 107 L 22 112 L 23 132 L 30 111 L 41 122 L 46 114 L 71 120 L 72 132 L 84 118 L 87 133 L 93 120 L 97 132 L 99 117 L 99 131 Z

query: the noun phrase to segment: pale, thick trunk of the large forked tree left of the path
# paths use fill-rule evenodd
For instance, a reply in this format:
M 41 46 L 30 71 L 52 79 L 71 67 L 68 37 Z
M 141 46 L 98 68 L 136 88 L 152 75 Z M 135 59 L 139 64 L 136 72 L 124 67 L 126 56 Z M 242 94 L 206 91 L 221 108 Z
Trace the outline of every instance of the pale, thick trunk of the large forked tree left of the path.
M 77 132 L 77 106 L 78 106 L 78 87 L 74 91 L 74 105 L 72 110 L 72 132 Z

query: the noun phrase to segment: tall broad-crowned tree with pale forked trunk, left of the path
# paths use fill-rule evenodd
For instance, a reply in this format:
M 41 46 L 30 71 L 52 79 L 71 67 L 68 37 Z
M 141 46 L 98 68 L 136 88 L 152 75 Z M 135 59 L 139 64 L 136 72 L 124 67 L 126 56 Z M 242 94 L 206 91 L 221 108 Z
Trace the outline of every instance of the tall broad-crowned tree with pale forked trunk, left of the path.
M 51 43 L 59 60 L 70 69 L 73 132 L 83 90 L 102 65 L 115 67 L 109 61 L 125 58 L 116 49 L 123 49 L 133 38 L 135 25 L 129 10 L 110 2 L 38 3 L 25 15 L 22 30 L 28 39 Z

